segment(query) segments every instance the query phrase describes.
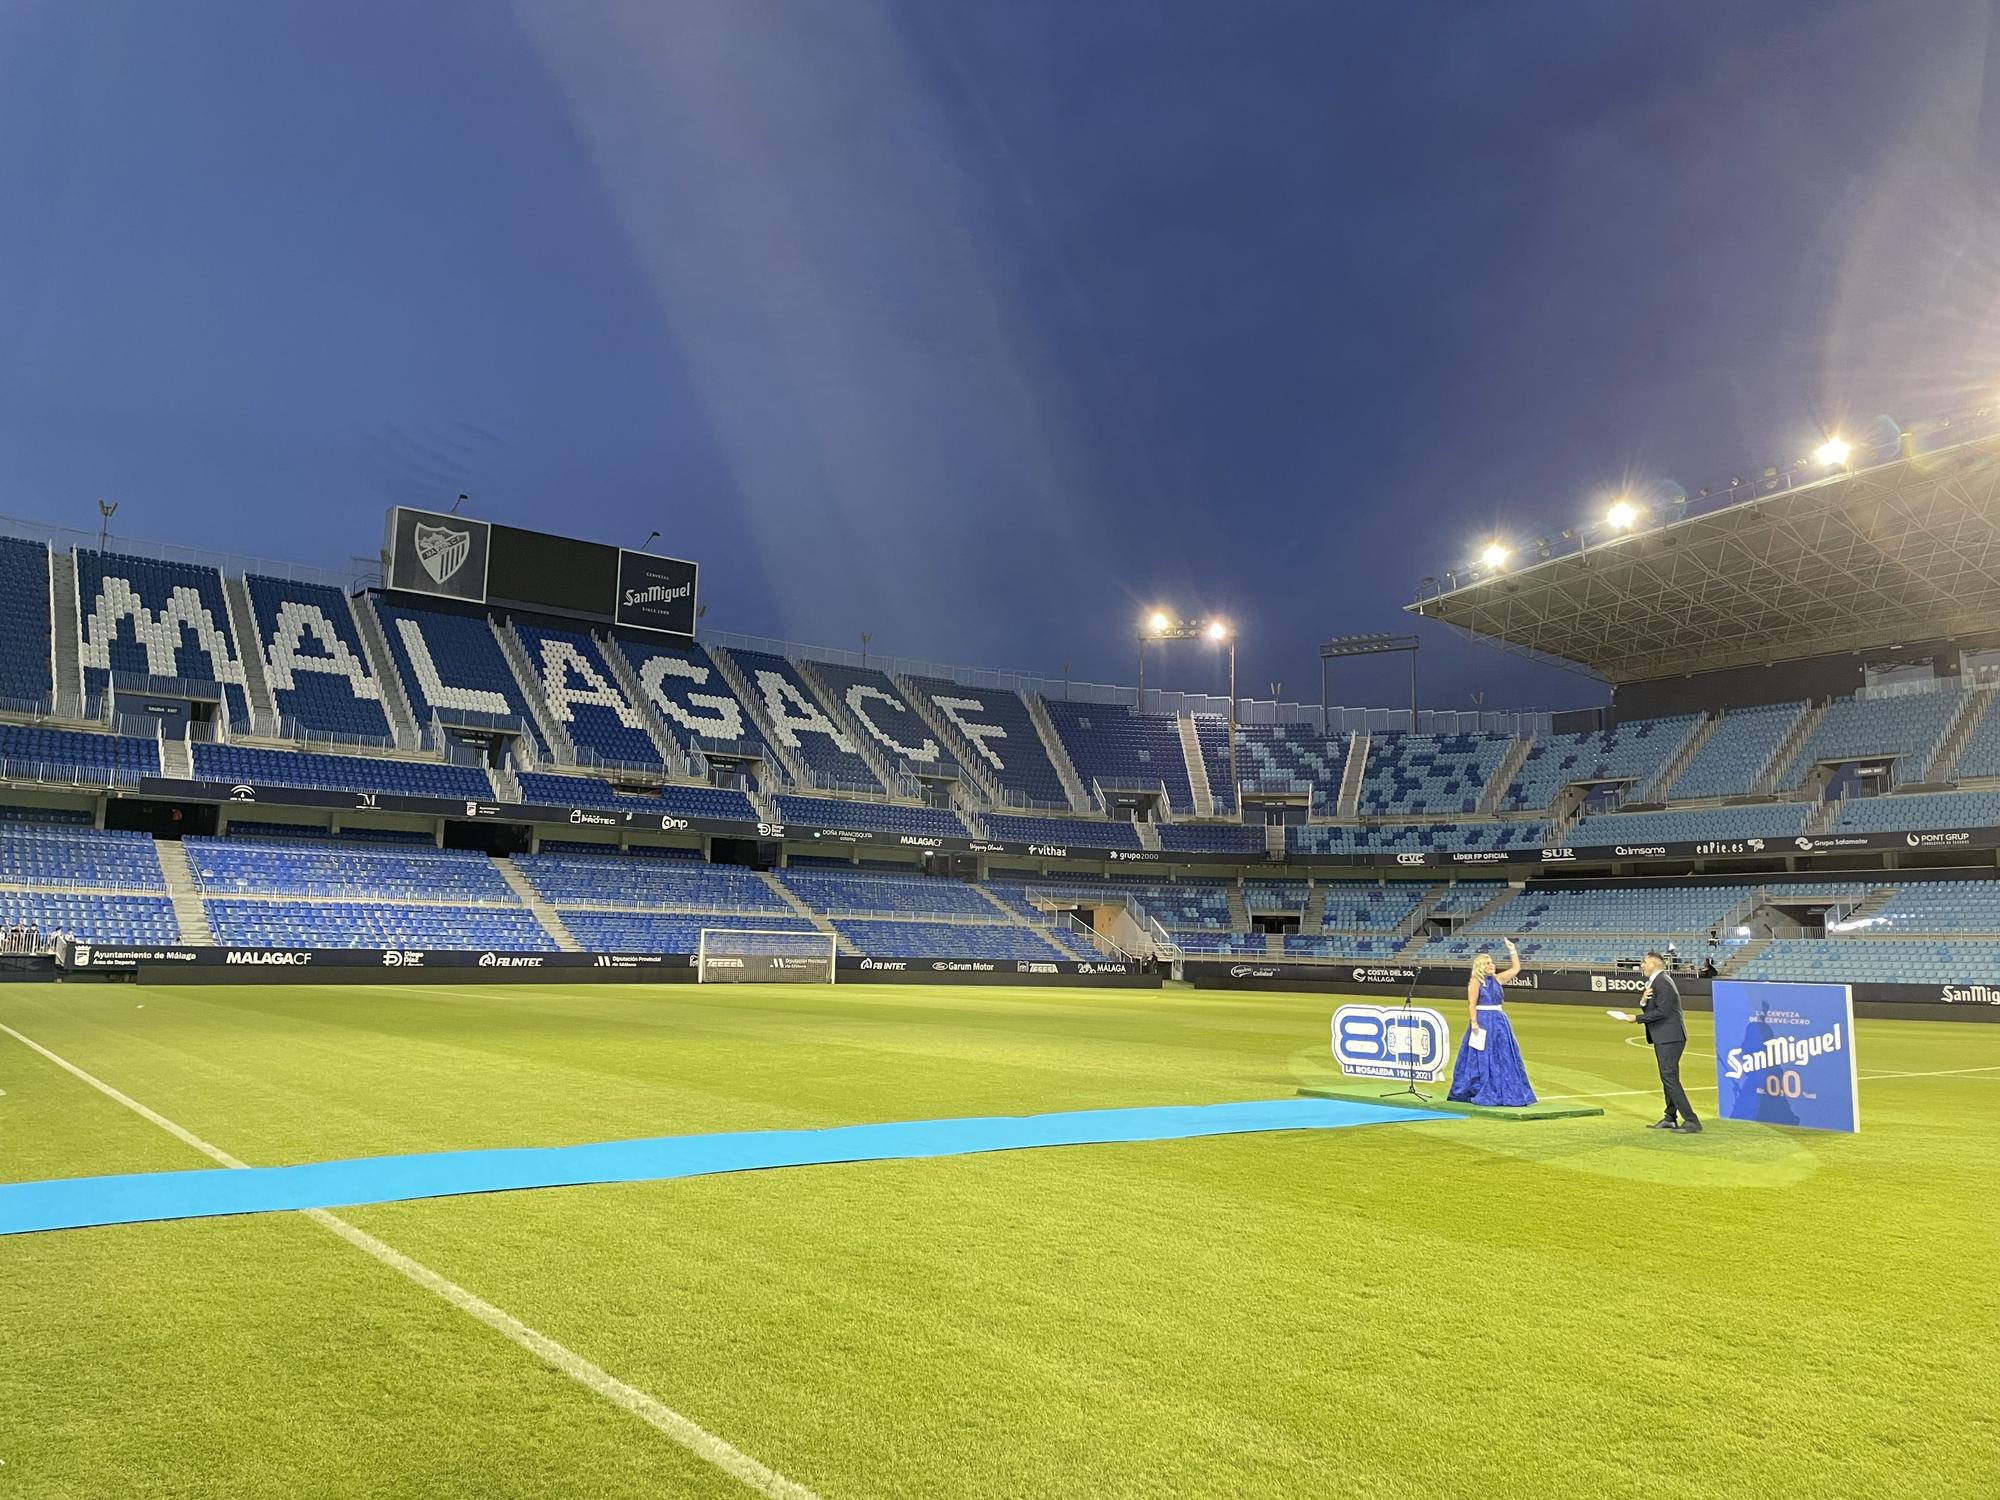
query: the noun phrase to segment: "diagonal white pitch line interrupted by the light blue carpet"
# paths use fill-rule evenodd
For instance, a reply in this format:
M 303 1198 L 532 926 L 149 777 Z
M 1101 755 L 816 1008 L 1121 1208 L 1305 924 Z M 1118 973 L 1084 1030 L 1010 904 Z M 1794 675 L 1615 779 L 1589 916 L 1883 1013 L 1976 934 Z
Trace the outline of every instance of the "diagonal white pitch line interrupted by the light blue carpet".
M 20 1042 L 22 1046 L 26 1046 L 28 1050 L 42 1054 L 44 1058 L 48 1058 L 50 1062 L 54 1062 L 64 1072 L 68 1072 L 68 1074 L 80 1078 L 82 1082 L 90 1084 L 94 1090 L 98 1090 L 106 1098 L 112 1098 L 118 1104 L 124 1104 L 128 1110 L 132 1110 L 140 1118 L 150 1120 L 152 1124 L 160 1126 L 160 1130 L 164 1130 L 166 1134 L 174 1136 L 174 1140 L 182 1142 L 184 1146 L 192 1146 L 194 1150 L 198 1150 L 208 1160 L 220 1162 L 222 1166 L 228 1166 L 228 1168 L 248 1170 L 248 1164 L 238 1162 L 234 1156 L 230 1156 L 220 1146 L 208 1144 L 206 1140 L 202 1140 L 200 1136 L 196 1136 L 192 1130 L 184 1130 L 182 1126 L 178 1126 L 172 1120 L 168 1120 L 158 1110 L 150 1110 L 144 1104 L 140 1104 L 136 1098 L 132 1098 L 130 1094 L 118 1092 L 116 1088 L 112 1088 L 110 1084 L 106 1084 L 102 1078 L 94 1078 L 92 1074 L 88 1074 L 82 1068 L 78 1068 L 68 1058 L 58 1058 L 54 1052 L 50 1052 L 46 1046 L 42 1046 L 34 1038 L 22 1036 L 20 1032 L 16 1032 L 12 1026 L 4 1024 L 4 1022 L 0 1022 L 0 1032 L 6 1032 L 8 1036 L 12 1036 L 16 1042 Z M 346 1240 L 348 1244 L 352 1244 L 356 1250 L 362 1250 L 364 1254 L 374 1256 L 376 1260 L 380 1260 L 390 1270 L 394 1270 L 394 1272 L 406 1276 L 408 1280 L 416 1282 L 426 1292 L 436 1292 L 438 1296 L 442 1296 L 446 1302 L 450 1302 L 460 1312 L 466 1312 L 466 1314 L 478 1318 L 482 1324 L 486 1324 L 488 1328 L 492 1328 L 502 1338 L 510 1340 L 512 1344 L 518 1344 L 524 1350 L 528 1350 L 538 1360 L 542 1360 L 542 1364 L 546 1364 L 546 1366 L 550 1366 L 554 1370 L 560 1370 L 562 1374 L 570 1376 L 570 1380 L 574 1380 L 576 1384 L 584 1386 L 586 1390 L 596 1392 L 598 1396 L 602 1396 L 604 1400 L 608 1400 L 612 1406 L 620 1406 L 626 1412 L 632 1412 L 632 1416 L 640 1418 L 642 1422 L 646 1422 L 654 1430 L 666 1434 L 668 1438 L 672 1438 L 674 1442 L 678 1442 L 682 1448 L 686 1448 L 690 1454 L 694 1454 L 696 1458 L 700 1458 L 700 1460 L 712 1464 L 714 1468 L 722 1470 L 732 1480 L 742 1482 L 744 1486 L 756 1490 L 762 1496 L 770 1496 L 770 1500 L 818 1500 L 818 1496 L 812 1490 L 808 1490 L 804 1484 L 796 1484 L 794 1480 L 788 1480 L 778 1470 L 766 1468 L 764 1464 L 760 1464 L 758 1460 L 754 1460 L 750 1454 L 746 1454 L 740 1448 L 732 1446 L 724 1438 L 718 1438 L 714 1432 L 710 1432 L 708 1428 L 700 1426 L 698 1422 L 682 1416 L 672 1406 L 666 1406 L 664 1402 L 654 1400 L 652 1396 L 648 1396 L 638 1386 L 628 1386 L 624 1380 L 620 1380 L 618 1376 L 610 1374 L 608 1370 L 592 1364 L 582 1354 L 578 1354 L 578 1352 L 574 1352 L 570 1348 L 564 1348 L 562 1344 L 558 1344 L 548 1334 L 536 1332 L 534 1328 L 530 1328 L 528 1324 L 524 1324 L 520 1318 L 516 1318 L 512 1312 L 506 1312 L 504 1308 L 496 1308 L 486 1298 L 476 1296 L 474 1292 L 468 1292 L 458 1282 L 454 1282 L 454 1280 L 450 1280 L 446 1276 L 440 1276 L 430 1266 L 422 1264 L 420 1260 L 412 1260 L 402 1250 L 398 1250 L 398 1248 L 394 1248 L 390 1244 L 384 1244 L 382 1240 L 374 1238 L 366 1230 L 356 1228 L 354 1224 L 348 1224 L 344 1218 L 336 1218 L 334 1214 L 328 1214 L 324 1208 L 308 1208 L 308 1210 L 304 1210 L 304 1216 L 310 1218 L 320 1228 L 330 1230 L 332 1234 L 338 1234 L 342 1240 Z

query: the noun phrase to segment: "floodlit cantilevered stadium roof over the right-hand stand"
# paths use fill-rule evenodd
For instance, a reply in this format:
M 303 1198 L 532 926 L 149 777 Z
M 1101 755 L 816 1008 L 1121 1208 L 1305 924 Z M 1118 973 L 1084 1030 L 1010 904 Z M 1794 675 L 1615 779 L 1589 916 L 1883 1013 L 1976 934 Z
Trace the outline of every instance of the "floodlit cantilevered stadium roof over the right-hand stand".
M 1488 568 L 1408 610 L 1614 684 L 1986 638 L 2000 630 L 2000 438 Z

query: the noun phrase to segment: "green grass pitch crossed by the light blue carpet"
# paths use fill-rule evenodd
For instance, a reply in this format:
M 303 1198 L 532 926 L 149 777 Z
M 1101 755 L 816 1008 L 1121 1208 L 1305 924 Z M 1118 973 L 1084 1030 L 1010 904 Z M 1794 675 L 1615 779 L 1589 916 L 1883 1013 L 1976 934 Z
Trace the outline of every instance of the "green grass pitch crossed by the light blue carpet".
M 0 1022 L 268 1166 L 1288 1098 L 1338 1082 L 1334 1004 L 6 986 Z M 2000 1026 L 1864 1020 L 1858 1136 L 1680 1138 L 1630 1028 L 1512 1010 L 1604 1116 L 340 1216 L 828 1500 L 2000 1490 Z M 6 1034 L 0 1090 L 6 1180 L 208 1166 Z M 748 1492 L 306 1216 L 0 1240 L 0 1500 Z

